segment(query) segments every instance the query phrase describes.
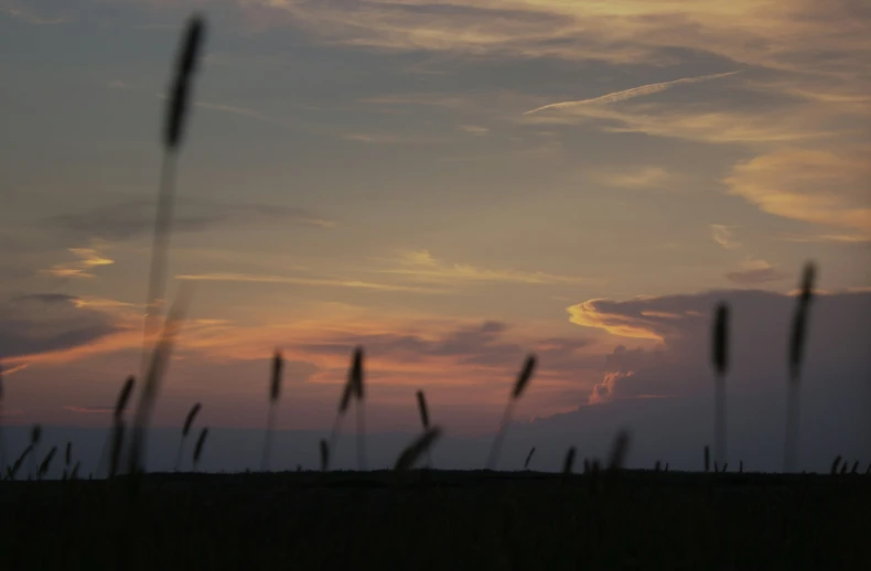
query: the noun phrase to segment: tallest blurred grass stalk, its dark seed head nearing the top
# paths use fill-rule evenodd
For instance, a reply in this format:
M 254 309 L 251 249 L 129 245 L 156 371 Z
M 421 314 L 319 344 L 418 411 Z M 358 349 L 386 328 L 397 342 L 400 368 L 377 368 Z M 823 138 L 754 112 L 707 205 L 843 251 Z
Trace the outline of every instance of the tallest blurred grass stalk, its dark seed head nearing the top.
M 166 116 L 163 125 L 163 164 L 158 190 L 154 235 L 151 249 L 151 270 L 146 301 L 142 375 L 144 375 L 148 366 L 149 346 L 157 333 L 159 319 L 163 310 L 166 257 L 169 255 L 172 215 L 175 205 L 175 170 L 189 116 L 193 76 L 200 60 L 204 35 L 205 22 L 198 15 L 192 17 L 187 22 L 187 29 L 179 51 L 175 73 L 166 104 Z

